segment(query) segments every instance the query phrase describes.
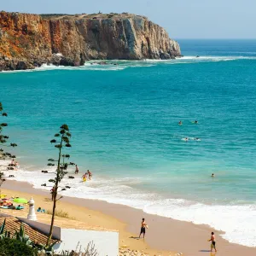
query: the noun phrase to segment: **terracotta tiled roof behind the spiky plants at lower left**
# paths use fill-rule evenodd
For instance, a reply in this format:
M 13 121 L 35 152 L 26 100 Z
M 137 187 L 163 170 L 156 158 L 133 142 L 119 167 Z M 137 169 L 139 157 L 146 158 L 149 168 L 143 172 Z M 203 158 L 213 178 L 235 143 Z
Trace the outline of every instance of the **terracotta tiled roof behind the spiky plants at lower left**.
M 20 223 L 23 224 L 24 227 L 24 232 L 26 236 L 29 236 L 29 239 L 33 241 L 36 244 L 43 244 L 45 245 L 47 242 L 48 237 L 42 234 L 40 231 L 33 229 L 31 226 L 28 224 L 25 224 L 21 222 L 19 219 L 9 216 L 9 217 L 0 217 L 0 224 L 3 224 L 3 221 L 5 220 L 5 227 L 4 231 L 10 232 L 10 236 L 15 236 L 15 231 L 20 230 Z M 58 240 L 52 239 L 51 244 L 56 242 Z

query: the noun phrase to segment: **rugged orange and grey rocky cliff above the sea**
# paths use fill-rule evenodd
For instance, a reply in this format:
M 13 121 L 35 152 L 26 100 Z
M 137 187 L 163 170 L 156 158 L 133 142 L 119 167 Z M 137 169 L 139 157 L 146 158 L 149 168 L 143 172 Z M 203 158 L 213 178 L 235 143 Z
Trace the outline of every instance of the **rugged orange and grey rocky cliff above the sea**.
M 79 66 L 86 60 L 170 59 L 176 41 L 146 17 L 0 13 L 0 70 L 43 63 Z

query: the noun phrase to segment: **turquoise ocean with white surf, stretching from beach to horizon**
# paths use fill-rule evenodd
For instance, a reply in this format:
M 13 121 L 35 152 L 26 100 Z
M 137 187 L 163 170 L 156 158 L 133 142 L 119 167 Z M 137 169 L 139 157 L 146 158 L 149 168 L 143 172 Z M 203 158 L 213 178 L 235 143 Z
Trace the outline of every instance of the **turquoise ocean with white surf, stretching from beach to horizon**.
M 67 123 L 80 175 L 63 180 L 63 195 L 208 224 L 256 247 L 256 40 L 178 42 L 177 60 L 0 73 L 15 179 L 49 189 L 41 170 Z

